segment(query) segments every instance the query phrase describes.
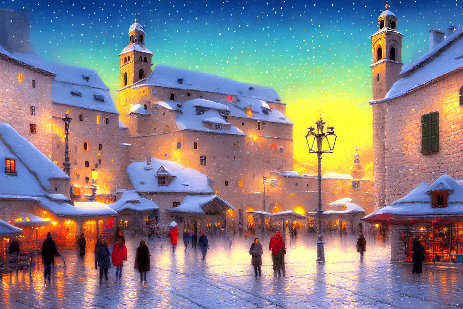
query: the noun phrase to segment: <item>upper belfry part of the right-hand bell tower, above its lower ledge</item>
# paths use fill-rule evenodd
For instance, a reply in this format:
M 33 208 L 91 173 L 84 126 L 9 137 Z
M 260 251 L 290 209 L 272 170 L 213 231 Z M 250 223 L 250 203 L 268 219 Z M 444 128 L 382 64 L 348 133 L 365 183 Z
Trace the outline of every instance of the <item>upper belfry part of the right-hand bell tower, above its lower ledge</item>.
M 378 31 L 371 36 L 373 100 L 384 98 L 400 78 L 402 38 L 403 34 L 397 31 L 397 17 L 388 10 L 386 4 L 386 11 L 378 17 Z

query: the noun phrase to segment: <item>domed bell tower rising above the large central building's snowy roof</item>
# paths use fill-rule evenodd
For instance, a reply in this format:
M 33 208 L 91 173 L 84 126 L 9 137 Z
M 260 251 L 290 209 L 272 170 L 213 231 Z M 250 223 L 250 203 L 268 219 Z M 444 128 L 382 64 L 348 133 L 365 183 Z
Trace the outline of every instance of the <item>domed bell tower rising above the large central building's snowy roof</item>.
M 151 74 L 153 53 L 145 47 L 143 26 L 137 22 L 129 28 L 129 44 L 119 54 L 120 88 L 135 84 Z

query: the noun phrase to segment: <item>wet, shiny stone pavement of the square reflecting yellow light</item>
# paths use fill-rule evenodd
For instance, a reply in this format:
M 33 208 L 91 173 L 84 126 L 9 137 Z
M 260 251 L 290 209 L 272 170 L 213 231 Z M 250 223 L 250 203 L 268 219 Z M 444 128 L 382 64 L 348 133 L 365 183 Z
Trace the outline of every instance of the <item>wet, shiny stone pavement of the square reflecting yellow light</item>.
M 325 236 L 326 263 L 315 263 L 315 235 L 286 237 L 287 277 L 273 277 L 269 236 L 263 244 L 263 277 L 254 277 L 248 253 L 254 237 L 235 236 L 231 248 L 224 236 L 208 236 L 210 249 L 183 242 L 175 252 L 168 238 L 147 240 L 151 253 L 148 283 L 133 269 L 142 237 L 127 237 L 129 258 L 123 277 L 100 285 L 94 254 L 81 259 L 77 250 L 63 250 L 67 268 L 56 258 L 50 283 L 43 266 L 3 275 L 1 308 L 463 308 L 458 268 L 425 267 L 420 276 L 411 266 L 389 264 L 387 243 L 367 239 L 365 260 L 355 249 L 356 236 Z M 145 240 L 147 237 L 143 237 Z M 179 237 L 180 240 L 180 237 Z M 111 248 L 110 248 L 111 249 Z

